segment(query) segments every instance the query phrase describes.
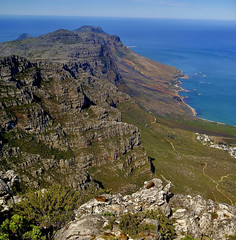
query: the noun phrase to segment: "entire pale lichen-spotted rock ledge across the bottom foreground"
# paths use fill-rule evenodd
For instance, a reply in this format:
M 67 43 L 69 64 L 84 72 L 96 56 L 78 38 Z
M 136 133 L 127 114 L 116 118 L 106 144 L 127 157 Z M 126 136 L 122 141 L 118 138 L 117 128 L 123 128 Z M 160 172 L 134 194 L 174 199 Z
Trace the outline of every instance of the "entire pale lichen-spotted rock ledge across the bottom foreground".
M 103 195 L 82 205 L 76 211 L 76 219 L 59 230 L 55 240 L 75 239 L 127 239 L 129 236 L 119 228 L 121 216 L 126 213 L 145 213 L 147 210 L 161 210 L 166 216 L 175 218 L 178 237 L 186 234 L 194 238 L 208 236 L 210 239 L 226 239 L 235 234 L 235 207 L 205 201 L 200 196 L 190 197 L 170 193 L 171 184 L 165 187 L 159 179 L 145 182 L 144 187 L 132 195 Z M 113 228 L 109 229 L 113 216 Z M 162 239 L 159 223 L 153 219 L 145 222 L 156 226 L 156 233 L 139 236 L 139 239 Z

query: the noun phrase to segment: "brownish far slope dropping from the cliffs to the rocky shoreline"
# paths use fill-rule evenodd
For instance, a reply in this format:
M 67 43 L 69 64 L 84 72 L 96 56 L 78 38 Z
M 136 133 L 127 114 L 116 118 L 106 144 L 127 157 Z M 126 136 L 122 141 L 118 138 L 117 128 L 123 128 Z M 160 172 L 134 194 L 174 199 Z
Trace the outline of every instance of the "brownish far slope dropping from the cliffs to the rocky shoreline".
M 192 116 L 192 110 L 178 94 L 178 77 L 182 73 L 171 66 L 161 64 L 120 47 L 115 55 L 119 72 L 128 88 L 127 93 L 148 111 L 158 114 Z M 122 90 L 122 89 L 120 89 Z

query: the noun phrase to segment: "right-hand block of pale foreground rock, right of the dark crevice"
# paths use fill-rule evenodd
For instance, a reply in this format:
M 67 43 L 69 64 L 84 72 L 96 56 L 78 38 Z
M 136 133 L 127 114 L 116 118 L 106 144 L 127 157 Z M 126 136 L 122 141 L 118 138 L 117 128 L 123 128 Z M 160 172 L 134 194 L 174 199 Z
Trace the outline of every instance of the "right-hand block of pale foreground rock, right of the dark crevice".
M 175 229 L 178 235 L 189 234 L 194 238 L 226 239 L 236 229 L 236 208 L 227 204 L 205 200 L 201 196 L 175 195 L 170 205 L 175 209 Z

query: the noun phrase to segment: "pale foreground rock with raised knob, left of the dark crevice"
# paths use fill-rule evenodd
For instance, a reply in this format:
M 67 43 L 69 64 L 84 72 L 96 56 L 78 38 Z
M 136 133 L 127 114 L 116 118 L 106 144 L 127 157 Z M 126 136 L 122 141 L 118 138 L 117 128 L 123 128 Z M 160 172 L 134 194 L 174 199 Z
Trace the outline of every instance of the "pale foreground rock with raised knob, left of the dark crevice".
M 122 196 L 103 195 L 103 198 L 95 198 L 88 203 L 83 204 L 75 213 L 76 219 L 59 230 L 54 239 L 104 239 L 102 236 L 111 235 L 115 238 L 122 236 L 119 229 L 120 217 L 126 213 L 145 212 L 151 209 L 162 209 L 167 215 L 170 215 L 168 206 L 169 188 L 165 188 L 159 179 L 152 180 L 153 186 L 147 188 L 148 182 L 144 187 L 132 195 Z M 109 225 L 110 217 L 115 218 L 113 230 L 105 230 Z M 146 222 L 152 222 L 152 219 L 145 219 Z M 158 223 L 155 222 L 158 226 Z M 158 228 L 158 227 L 157 227 Z M 156 237 L 158 236 L 158 231 Z M 150 237 L 150 236 L 149 236 Z M 150 239 L 150 238 L 149 238 Z

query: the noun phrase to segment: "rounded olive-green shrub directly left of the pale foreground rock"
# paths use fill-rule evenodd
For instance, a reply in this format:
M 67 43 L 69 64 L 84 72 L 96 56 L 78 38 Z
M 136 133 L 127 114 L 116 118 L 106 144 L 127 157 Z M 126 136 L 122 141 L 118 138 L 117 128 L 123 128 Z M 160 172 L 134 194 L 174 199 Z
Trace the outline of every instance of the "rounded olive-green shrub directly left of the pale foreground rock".
M 29 192 L 14 211 L 39 227 L 59 228 L 73 219 L 73 210 L 81 204 L 80 200 L 80 193 L 73 188 L 56 185 L 45 191 Z

